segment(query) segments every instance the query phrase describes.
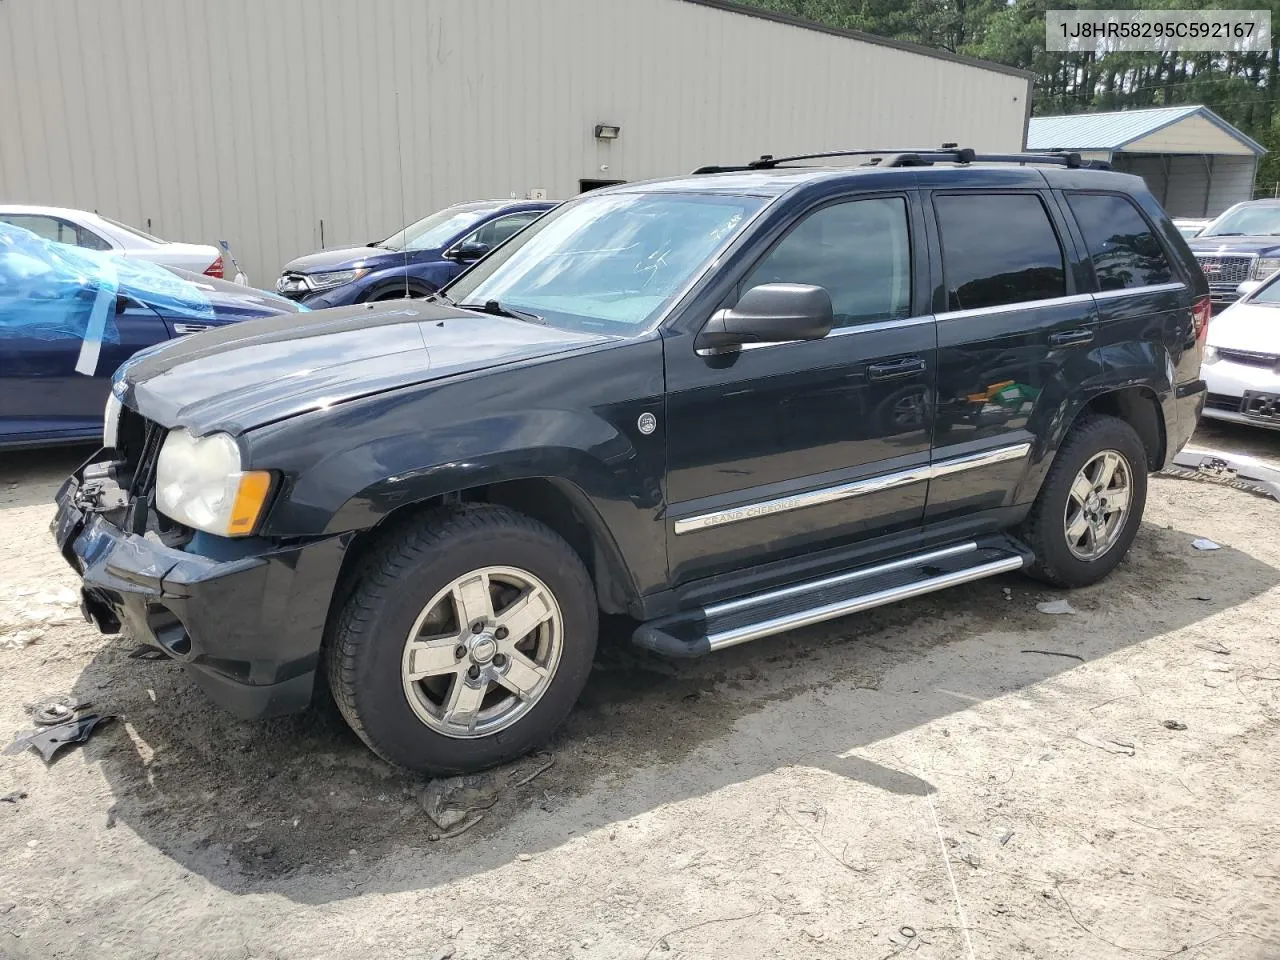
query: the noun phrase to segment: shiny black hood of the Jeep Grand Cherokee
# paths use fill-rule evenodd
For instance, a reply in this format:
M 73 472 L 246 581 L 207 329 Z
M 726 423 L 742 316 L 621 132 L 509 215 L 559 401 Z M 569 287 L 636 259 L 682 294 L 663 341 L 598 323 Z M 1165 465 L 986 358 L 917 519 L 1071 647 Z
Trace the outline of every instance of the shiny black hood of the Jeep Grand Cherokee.
M 124 402 L 197 435 L 608 338 L 420 300 L 246 320 L 170 340 L 116 374 Z

